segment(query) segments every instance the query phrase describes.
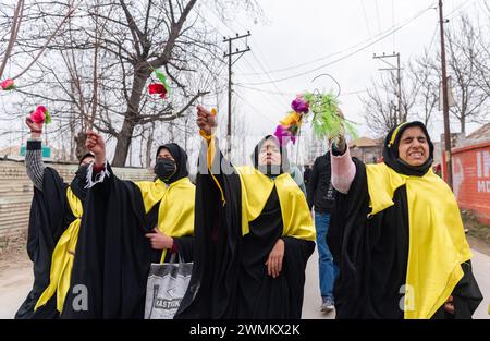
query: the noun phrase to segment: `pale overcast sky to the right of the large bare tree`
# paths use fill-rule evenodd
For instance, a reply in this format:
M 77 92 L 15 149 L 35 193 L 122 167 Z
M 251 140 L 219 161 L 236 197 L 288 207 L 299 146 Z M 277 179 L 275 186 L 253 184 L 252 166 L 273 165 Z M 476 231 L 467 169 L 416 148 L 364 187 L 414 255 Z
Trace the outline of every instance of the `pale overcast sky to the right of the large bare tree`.
M 446 25 L 455 23 L 451 19 L 461 12 L 482 11 L 481 1 L 485 0 L 445 0 L 444 14 L 450 19 Z M 362 123 L 363 135 L 369 135 L 358 96 L 364 95 L 362 92 L 369 87 L 371 78 L 379 80 L 381 72 L 385 72 L 378 70 L 385 65 L 373 60 L 373 53 L 400 52 L 402 63 L 420 56 L 427 47 L 437 53 L 440 49 L 437 2 L 262 0 L 259 3 L 268 21 L 266 24 L 244 15 L 220 24 L 212 11 L 208 19 L 225 36 L 244 34 L 247 29 L 252 33 L 247 41 L 252 51 L 233 66 L 237 114 L 256 123 L 250 126 L 252 133 L 273 132 L 297 93 L 315 88 L 336 92 L 335 83 L 328 76 L 311 83 L 314 77 L 328 73 L 341 84 L 344 113 Z M 389 34 L 393 28 L 399 29 Z M 236 47 L 244 45 L 237 42 Z M 226 71 L 222 73 L 223 78 Z M 476 127 L 469 125 L 468 132 Z M 436 139 L 442 129 L 442 119 L 434 121 L 431 133 L 438 136 Z M 453 131 L 457 130 L 458 125 L 454 124 Z

